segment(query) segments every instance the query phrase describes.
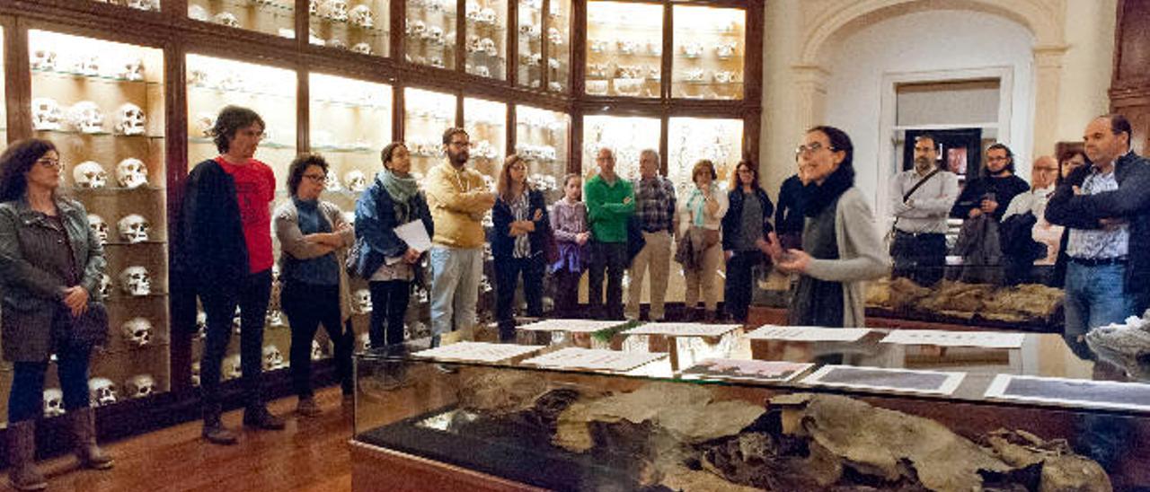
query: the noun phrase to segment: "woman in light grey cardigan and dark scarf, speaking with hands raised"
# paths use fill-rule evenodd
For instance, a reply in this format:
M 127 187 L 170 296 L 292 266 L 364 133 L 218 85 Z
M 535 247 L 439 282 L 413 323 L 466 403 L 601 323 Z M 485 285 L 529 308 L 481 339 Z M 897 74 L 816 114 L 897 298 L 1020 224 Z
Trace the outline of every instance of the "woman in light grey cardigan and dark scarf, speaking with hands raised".
M 796 154 L 805 183 L 803 249 L 783 251 L 774 233 L 759 247 L 775 268 L 800 275 L 788 309 L 791 325 L 861 326 L 866 280 L 887 275 L 890 257 L 854 187 L 854 147 L 842 130 L 815 126 Z

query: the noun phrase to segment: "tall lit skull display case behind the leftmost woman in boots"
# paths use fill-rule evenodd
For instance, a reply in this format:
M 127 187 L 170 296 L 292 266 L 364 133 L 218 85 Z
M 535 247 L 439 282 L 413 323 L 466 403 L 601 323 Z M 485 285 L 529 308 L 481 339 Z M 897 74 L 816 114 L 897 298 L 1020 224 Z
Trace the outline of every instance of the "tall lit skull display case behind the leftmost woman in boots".
M 163 51 L 41 30 L 28 44 L 33 136 L 55 144 L 61 192 L 84 203 L 108 262 L 94 295 L 108 306 L 110 337 L 90 379 L 93 393 L 108 391 L 93 403 L 166 392 Z M 59 387 L 54 370 L 46 387 Z

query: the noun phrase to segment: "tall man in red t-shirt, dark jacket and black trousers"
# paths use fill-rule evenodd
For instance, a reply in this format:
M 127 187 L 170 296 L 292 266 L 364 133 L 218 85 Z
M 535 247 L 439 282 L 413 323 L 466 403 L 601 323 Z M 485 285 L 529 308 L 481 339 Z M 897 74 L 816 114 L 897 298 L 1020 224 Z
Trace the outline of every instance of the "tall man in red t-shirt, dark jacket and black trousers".
M 207 314 L 200 389 L 204 438 L 213 444 L 236 444 L 235 432 L 220 422 L 220 372 L 237 306 L 244 425 L 284 428 L 283 420 L 267 410 L 260 389 L 276 190 L 271 168 L 254 159 L 263 129 L 263 120 L 251 109 L 228 106 L 220 112 L 212 130 L 220 156 L 200 162 L 189 175 L 176 226 L 172 270 L 194 286 Z

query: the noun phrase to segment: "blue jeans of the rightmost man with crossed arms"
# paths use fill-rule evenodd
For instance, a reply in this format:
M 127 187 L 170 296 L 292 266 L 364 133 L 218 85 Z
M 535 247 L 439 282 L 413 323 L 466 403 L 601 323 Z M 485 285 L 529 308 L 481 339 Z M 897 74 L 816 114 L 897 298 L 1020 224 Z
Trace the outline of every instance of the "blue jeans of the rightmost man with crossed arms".
M 1066 341 L 1110 323 L 1121 323 L 1134 314 L 1134 300 L 1126 293 L 1125 264 L 1066 264 Z

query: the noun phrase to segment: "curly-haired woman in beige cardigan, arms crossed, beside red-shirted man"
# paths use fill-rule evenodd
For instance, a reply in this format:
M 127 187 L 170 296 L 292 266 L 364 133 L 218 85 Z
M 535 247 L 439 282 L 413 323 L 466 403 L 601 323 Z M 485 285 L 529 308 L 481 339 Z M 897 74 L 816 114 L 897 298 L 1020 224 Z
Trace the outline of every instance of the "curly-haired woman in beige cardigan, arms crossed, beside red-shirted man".
M 312 340 L 323 323 L 336 346 L 336 368 L 344 398 L 352 394 L 351 303 L 343 256 L 354 240 L 339 207 L 321 201 L 328 162 L 316 154 L 296 157 L 288 168 L 291 200 L 276 207 L 273 226 L 279 240 L 279 303 L 291 325 L 291 374 L 299 403 L 296 412 L 315 416 L 312 398 Z

